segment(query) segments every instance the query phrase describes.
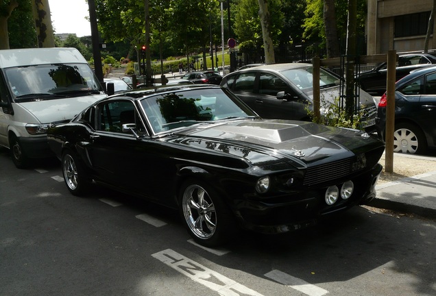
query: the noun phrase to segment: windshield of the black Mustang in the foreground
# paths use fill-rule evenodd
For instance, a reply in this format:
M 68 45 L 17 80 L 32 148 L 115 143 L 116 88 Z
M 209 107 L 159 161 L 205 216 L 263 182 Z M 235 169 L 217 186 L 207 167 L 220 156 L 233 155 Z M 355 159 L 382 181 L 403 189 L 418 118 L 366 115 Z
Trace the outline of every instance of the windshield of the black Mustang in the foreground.
M 236 97 L 221 88 L 185 90 L 141 101 L 155 133 L 198 123 L 256 116 Z

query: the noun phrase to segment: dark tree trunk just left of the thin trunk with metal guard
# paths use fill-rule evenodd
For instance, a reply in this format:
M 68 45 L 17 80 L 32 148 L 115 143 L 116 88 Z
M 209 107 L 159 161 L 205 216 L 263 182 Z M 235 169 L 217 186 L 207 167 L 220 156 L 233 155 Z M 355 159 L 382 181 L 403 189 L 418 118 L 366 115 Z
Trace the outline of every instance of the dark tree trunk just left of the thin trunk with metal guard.
M 324 0 L 324 27 L 326 30 L 327 57 L 339 57 L 339 42 L 337 38 L 335 0 Z

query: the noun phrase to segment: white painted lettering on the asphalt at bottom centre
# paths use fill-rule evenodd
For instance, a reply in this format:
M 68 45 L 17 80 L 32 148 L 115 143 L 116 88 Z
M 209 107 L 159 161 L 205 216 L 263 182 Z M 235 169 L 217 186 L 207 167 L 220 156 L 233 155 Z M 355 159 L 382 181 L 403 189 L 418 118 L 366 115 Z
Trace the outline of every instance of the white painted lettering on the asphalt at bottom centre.
M 234 280 L 225 277 L 224 275 L 221 275 L 220 273 L 204 267 L 202 264 L 178 254 L 172 249 L 160 251 L 152 254 L 152 256 L 176 271 L 182 273 L 183 275 L 190 277 L 191 280 L 210 288 L 210 290 L 218 292 L 219 295 L 263 296 L 262 294 L 259 294 L 256 291 L 247 288 L 246 286 L 243 286 L 242 284 L 239 284 Z

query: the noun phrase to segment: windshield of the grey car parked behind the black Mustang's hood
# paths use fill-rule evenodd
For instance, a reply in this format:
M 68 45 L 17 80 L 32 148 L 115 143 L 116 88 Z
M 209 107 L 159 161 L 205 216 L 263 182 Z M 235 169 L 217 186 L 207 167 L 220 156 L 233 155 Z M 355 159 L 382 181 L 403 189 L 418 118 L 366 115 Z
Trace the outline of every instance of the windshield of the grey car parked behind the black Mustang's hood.
M 293 84 L 298 86 L 300 90 L 313 88 L 313 66 L 307 66 L 304 68 L 295 68 L 281 71 L 281 73 L 287 77 Z M 319 86 L 337 86 L 339 85 L 339 78 L 332 75 L 324 69 L 319 69 Z

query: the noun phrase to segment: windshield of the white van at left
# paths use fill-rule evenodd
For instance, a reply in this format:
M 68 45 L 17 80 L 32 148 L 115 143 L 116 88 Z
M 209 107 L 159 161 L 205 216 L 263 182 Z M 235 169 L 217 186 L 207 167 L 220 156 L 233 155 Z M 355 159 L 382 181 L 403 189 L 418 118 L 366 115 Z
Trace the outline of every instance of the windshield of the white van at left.
M 75 97 L 102 90 L 88 64 L 43 64 L 5 69 L 14 101 Z

